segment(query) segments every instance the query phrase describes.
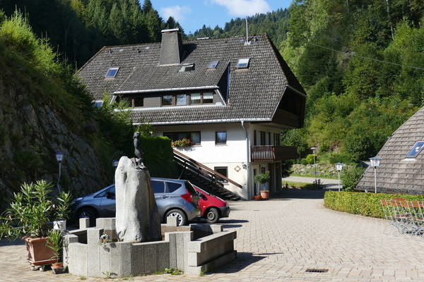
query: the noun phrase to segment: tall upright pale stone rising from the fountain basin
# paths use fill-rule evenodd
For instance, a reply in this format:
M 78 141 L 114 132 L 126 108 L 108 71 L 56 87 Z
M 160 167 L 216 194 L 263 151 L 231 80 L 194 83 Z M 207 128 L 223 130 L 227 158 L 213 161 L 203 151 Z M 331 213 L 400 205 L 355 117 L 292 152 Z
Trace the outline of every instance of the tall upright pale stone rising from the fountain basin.
M 119 240 L 161 240 L 160 217 L 151 187 L 150 173 L 137 169 L 128 157 L 121 157 L 115 171 L 115 194 Z

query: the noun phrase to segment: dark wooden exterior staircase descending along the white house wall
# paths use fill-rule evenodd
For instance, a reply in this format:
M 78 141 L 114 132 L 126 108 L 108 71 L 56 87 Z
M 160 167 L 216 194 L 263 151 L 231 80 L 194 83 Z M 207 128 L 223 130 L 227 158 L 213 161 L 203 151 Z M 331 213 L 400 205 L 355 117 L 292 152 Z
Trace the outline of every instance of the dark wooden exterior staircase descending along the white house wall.
M 223 198 L 224 200 L 241 200 L 239 195 L 228 190 L 225 188 L 225 185 L 223 185 L 224 182 L 228 182 L 236 185 L 238 188 L 242 188 L 242 185 L 239 183 L 187 157 L 177 150 L 174 150 L 174 160 L 180 168 L 182 168 L 179 178 L 190 180 L 191 183 L 199 186 L 199 188 Z

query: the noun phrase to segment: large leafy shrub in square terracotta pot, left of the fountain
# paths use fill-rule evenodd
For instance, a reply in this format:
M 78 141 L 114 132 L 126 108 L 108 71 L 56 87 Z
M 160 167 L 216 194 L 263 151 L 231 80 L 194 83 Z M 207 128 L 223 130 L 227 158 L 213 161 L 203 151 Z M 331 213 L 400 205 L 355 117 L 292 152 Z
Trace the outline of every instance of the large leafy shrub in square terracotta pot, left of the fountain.
M 53 250 L 46 246 L 47 233 L 52 229 L 52 221 L 63 214 L 69 205 L 71 195 L 61 193 L 58 198 L 52 195 L 52 183 L 39 180 L 36 183 L 23 183 L 20 192 L 15 193 L 11 207 L 0 216 L 0 238 L 16 240 L 23 238 L 28 250 L 28 261 L 35 266 L 54 262 Z M 67 199 L 64 199 L 66 197 Z

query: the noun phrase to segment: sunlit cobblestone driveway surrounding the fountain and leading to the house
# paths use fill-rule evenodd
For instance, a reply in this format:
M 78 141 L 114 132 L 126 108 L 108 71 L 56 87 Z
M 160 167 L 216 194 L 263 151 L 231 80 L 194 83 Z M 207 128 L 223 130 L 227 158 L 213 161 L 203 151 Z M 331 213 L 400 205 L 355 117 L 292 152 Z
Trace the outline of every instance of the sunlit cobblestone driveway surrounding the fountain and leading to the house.
M 424 281 L 424 239 L 387 235 L 387 221 L 325 209 L 319 191 L 290 190 L 279 196 L 231 203 L 230 218 L 222 223 L 237 231 L 239 258 L 216 273 L 125 280 Z M 30 271 L 24 249 L 23 245 L 0 247 L 0 281 L 81 281 L 69 274 Z M 307 268 L 329 271 L 307 273 Z

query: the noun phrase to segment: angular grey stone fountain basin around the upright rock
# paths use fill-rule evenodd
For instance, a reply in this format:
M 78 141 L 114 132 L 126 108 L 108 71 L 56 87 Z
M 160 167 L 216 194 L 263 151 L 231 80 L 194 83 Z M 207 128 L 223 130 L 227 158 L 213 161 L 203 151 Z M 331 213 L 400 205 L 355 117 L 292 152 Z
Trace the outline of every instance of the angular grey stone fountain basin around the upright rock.
M 139 276 L 176 267 L 185 274 L 199 275 L 237 257 L 236 231 L 223 231 L 218 224 L 177 226 L 175 218 L 168 218 L 161 225 L 162 241 L 100 243 L 104 233 L 116 238 L 114 223 L 114 218 L 100 218 L 95 227 L 88 227 L 88 221 L 81 219 L 80 228 L 65 236 L 64 263 L 70 274 Z

